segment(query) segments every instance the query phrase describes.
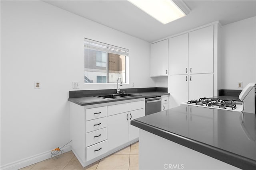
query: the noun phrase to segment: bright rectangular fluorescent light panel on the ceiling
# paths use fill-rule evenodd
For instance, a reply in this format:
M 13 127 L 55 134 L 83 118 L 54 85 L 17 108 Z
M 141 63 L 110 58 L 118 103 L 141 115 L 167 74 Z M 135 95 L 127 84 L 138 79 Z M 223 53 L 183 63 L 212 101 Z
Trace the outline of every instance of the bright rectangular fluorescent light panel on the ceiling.
M 163 24 L 177 20 L 186 14 L 172 0 L 128 0 Z

